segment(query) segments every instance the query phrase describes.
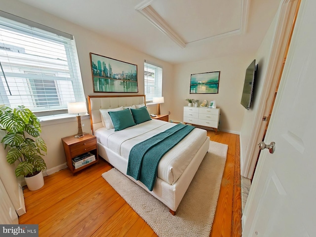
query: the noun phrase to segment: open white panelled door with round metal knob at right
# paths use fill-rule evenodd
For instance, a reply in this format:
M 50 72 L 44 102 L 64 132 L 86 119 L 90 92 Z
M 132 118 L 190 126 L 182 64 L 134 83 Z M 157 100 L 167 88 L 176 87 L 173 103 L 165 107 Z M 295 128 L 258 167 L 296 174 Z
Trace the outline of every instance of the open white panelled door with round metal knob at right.
M 265 143 L 242 216 L 243 237 L 316 237 L 316 0 L 302 0 Z

